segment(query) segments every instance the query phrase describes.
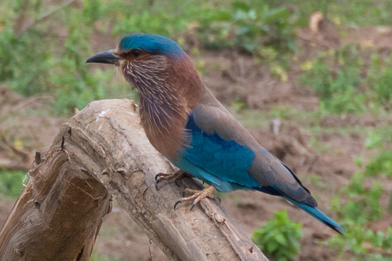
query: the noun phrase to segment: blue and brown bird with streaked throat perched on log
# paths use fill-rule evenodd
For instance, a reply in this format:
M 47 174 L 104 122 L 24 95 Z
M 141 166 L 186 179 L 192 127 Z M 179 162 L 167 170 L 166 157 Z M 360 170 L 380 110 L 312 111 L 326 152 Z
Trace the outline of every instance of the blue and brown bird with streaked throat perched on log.
M 175 208 L 192 200 L 193 208 L 215 189 L 257 190 L 285 198 L 336 232 L 346 232 L 317 208 L 293 171 L 212 95 L 175 41 L 157 34 L 128 34 L 115 49 L 97 53 L 86 63 L 113 64 L 138 89 L 140 122 L 148 140 L 179 168 L 158 173 L 156 184 L 187 174 L 207 183 L 207 188 L 178 200 Z

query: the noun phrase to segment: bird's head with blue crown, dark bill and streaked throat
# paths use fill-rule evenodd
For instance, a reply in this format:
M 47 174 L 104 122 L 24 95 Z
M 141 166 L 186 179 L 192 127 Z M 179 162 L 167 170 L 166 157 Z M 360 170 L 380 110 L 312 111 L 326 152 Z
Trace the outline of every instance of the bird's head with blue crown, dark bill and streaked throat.
M 189 56 L 175 41 L 155 34 L 129 34 L 117 48 L 91 56 L 86 63 L 118 66 L 125 80 L 145 96 L 165 91 L 163 88 L 172 86 L 173 81 L 181 83 L 190 78 L 183 73 L 184 66 L 187 73 L 196 72 Z

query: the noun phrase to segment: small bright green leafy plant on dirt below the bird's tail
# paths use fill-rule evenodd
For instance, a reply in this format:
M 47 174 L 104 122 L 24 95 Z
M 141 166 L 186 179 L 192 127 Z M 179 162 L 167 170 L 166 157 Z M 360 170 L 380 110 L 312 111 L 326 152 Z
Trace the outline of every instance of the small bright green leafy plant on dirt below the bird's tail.
M 253 242 L 266 255 L 279 261 L 291 260 L 301 251 L 299 239 L 304 236 L 301 223 L 289 220 L 287 210 L 276 211 L 274 219 L 254 230 Z

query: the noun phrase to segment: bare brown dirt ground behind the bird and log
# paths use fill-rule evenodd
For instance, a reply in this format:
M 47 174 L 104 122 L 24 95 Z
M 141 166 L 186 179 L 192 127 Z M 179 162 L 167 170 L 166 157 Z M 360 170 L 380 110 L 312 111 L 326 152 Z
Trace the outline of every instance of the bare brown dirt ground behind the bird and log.
M 344 38 L 339 37 L 341 43 L 371 44 L 372 48 L 377 50 L 391 51 L 391 30 L 366 27 L 347 29 L 347 31 L 348 34 Z M 309 29 L 299 30 L 298 35 L 299 61 L 297 68 L 294 67 L 289 72 L 288 82 L 282 83 L 272 78 L 267 66 L 260 66 L 254 58 L 230 51 L 202 51 L 205 71 L 208 71 L 203 76 L 206 85 L 227 106 L 231 105 L 235 99 L 239 99 L 247 107 L 266 114 L 273 106 L 289 106 L 289 108 L 304 112 L 316 111 L 318 99 L 314 91 L 297 81 L 302 73 L 299 64 L 314 57 L 317 51 L 330 48 L 328 42 L 330 39 L 323 38 L 323 36 L 314 39 Z M 94 49 L 99 51 L 100 46 L 97 44 Z M 213 69 L 216 65 L 219 65 L 219 68 Z M 42 109 L 48 106 L 43 96 L 21 98 L 7 91 L 6 86 L 2 86 L 0 91 L 0 130 L 9 140 L 24 139 L 24 150 L 28 153 L 28 156 L 24 157 L 9 148 L 0 147 L 0 165 L 3 163 L 13 169 L 28 169 L 34 151 L 47 150 L 58 128 L 68 119 L 51 118 L 48 115 L 39 115 L 39 113 L 32 116 L 28 113 L 31 109 Z M 16 110 L 16 108 L 19 109 Z M 241 116 L 241 112 L 234 111 L 234 113 Z M 365 135 L 361 133 L 341 134 L 337 131 L 338 128 L 373 128 L 391 123 L 392 117 L 389 121 L 380 121 L 369 115 L 324 116 L 320 119 L 321 128 L 336 131 L 321 131 L 316 134 L 316 140 L 319 146 L 324 148 L 323 150 L 311 144 L 311 137 L 315 134 L 306 131 L 303 126 L 304 120 L 289 118 L 280 123 L 270 121 L 262 124 L 262 126 L 267 126 L 265 128 L 249 127 L 248 129 L 259 143 L 297 173 L 318 201 L 319 208 L 331 218 L 336 218 L 336 215 L 329 211 L 331 198 L 341 187 L 347 185 L 351 175 L 359 170 L 354 164 L 354 157 L 361 155 L 366 161 L 371 156 L 371 152 L 364 148 Z M 309 124 L 311 125 L 306 122 L 306 125 Z M 319 180 L 319 182 L 312 180 Z M 389 195 L 392 185 L 384 184 L 384 189 L 388 192 L 386 194 Z M 5 222 L 13 204 L 13 200 L 0 201 L 0 227 Z M 222 205 L 234 216 L 249 236 L 256 227 L 271 219 L 274 211 L 287 209 L 292 220 L 303 224 L 304 237 L 301 239 L 301 255 L 298 260 L 322 261 L 337 258 L 336 253 L 325 244 L 325 240 L 334 235 L 334 231 L 294 207 L 287 200 L 263 193 L 235 191 L 222 197 Z M 382 198 L 381 205 L 386 207 L 388 198 Z M 380 220 L 376 224 L 377 228 L 391 225 L 390 220 L 392 220 L 391 215 Z M 167 257 L 149 242 L 148 237 L 130 219 L 125 210 L 119 208 L 115 202 L 112 213 L 105 218 L 100 230 L 95 252 L 102 257 L 118 257 L 120 260 L 167 260 Z M 350 256 L 344 259 L 354 260 Z

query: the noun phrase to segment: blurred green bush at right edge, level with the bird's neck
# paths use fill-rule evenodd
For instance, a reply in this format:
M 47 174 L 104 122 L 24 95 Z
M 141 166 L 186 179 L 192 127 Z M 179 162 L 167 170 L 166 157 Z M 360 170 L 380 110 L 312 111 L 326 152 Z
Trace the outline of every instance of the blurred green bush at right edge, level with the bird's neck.
M 370 65 L 362 56 L 368 53 L 354 44 L 337 51 L 319 53 L 301 76 L 302 83 L 312 86 L 320 98 L 320 109 L 326 113 L 361 114 L 391 109 L 391 57 L 371 54 Z M 305 67 L 305 66 L 304 66 Z

